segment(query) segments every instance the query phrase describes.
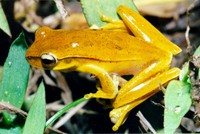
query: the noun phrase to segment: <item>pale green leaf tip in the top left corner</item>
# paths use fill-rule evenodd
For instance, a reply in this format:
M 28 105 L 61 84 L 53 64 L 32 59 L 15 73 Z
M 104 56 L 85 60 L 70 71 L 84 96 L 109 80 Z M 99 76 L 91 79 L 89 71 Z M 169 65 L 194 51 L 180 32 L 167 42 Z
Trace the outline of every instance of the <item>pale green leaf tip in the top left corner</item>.
M 2 29 L 7 35 L 9 35 L 11 37 L 11 33 L 10 33 L 10 28 L 8 26 L 8 22 L 6 19 L 6 16 L 4 14 L 2 5 L 1 5 L 1 1 L 0 1 L 0 29 Z

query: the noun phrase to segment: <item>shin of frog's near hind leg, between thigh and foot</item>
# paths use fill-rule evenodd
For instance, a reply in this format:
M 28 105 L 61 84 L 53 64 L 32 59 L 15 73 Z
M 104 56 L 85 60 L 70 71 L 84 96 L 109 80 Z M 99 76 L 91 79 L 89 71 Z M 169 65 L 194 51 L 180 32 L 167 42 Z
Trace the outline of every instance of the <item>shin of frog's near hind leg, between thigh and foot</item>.
M 130 88 L 127 92 L 124 92 L 123 94 L 118 94 L 114 99 L 112 105 L 114 107 L 120 107 L 122 105 L 137 101 L 141 98 L 148 98 L 151 96 L 152 93 L 156 93 L 158 91 L 158 87 L 160 84 L 167 83 L 169 80 L 176 78 L 179 74 L 180 69 L 178 68 L 172 68 L 161 74 L 157 74 L 147 81 Z M 127 84 L 125 84 L 124 87 L 127 87 Z M 122 87 L 120 90 L 123 90 L 124 87 Z

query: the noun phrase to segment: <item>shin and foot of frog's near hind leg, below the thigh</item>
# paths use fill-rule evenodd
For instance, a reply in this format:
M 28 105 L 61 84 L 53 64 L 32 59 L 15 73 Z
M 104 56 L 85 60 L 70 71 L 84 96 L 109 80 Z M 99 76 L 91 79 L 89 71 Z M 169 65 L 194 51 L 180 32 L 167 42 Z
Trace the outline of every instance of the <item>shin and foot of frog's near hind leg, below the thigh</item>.
M 172 68 L 136 86 L 130 92 L 126 93 L 124 96 L 122 97 L 117 96 L 117 98 L 114 100 L 115 104 L 113 103 L 115 109 L 113 109 L 110 112 L 110 118 L 115 122 L 113 130 L 116 131 L 119 128 L 119 126 L 124 122 L 127 113 L 131 109 L 133 109 L 135 106 L 139 105 L 140 103 L 148 99 L 150 96 L 155 94 L 159 90 L 158 89 L 159 84 L 164 84 L 169 80 L 174 79 L 179 75 L 179 73 L 180 70 L 178 68 Z M 121 102 L 124 102 L 124 105 L 118 107 L 118 103 Z

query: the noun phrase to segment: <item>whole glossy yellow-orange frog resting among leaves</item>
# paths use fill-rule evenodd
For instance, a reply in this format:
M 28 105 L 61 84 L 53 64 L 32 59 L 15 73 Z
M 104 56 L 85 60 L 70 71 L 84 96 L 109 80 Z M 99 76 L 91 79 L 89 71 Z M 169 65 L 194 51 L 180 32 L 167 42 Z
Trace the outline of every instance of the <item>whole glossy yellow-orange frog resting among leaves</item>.
M 131 109 L 159 91 L 160 84 L 179 75 L 180 70 L 170 69 L 170 63 L 172 56 L 181 52 L 135 11 L 119 6 L 117 12 L 122 18 L 120 24 L 132 34 L 107 30 L 106 26 L 72 31 L 42 27 L 26 53 L 36 68 L 94 74 L 101 88 L 85 98 L 111 99 L 114 131 Z M 122 75 L 134 77 L 121 83 L 118 78 Z

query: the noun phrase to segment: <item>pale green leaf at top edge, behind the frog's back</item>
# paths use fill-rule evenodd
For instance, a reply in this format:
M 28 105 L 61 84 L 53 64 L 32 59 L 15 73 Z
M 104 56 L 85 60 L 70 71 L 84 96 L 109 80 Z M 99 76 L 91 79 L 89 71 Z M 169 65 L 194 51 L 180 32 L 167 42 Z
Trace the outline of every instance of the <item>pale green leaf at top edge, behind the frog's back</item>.
M 106 22 L 100 19 L 102 15 L 119 20 L 120 18 L 116 12 L 119 5 L 126 5 L 137 11 L 133 0 L 81 0 L 81 4 L 90 26 L 93 24 L 99 27 L 105 25 Z

